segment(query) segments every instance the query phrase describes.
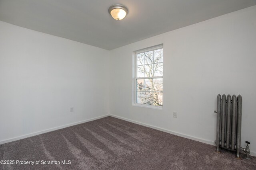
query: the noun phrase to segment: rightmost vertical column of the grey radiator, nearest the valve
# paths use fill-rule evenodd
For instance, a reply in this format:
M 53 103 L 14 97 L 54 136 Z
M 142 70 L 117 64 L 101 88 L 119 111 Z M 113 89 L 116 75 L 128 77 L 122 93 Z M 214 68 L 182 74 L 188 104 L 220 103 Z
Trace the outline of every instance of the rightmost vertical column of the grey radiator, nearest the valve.
M 237 120 L 236 120 L 236 157 L 240 158 L 242 125 L 242 96 L 237 96 Z

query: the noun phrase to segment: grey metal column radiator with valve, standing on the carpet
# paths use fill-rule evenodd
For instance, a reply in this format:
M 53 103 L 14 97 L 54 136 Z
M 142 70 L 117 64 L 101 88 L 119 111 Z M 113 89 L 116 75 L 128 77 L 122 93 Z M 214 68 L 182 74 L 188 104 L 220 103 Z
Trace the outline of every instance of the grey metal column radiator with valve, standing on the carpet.
M 242 96 L 217 96 L 217 133 L 216 151 L 220 148 L 236 151 L 236 157 L 240 158 L 240 152 L 246 153 L 246 158 L 250 159 L 250 149 L 241 147 L 241 125 L 242 125 Z

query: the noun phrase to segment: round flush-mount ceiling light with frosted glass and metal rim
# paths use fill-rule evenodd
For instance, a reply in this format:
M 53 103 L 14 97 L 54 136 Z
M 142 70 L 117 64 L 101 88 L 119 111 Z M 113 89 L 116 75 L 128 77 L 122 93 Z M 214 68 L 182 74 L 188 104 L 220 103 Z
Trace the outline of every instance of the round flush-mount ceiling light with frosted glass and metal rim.
M 115 20 L 122 20 L 128 14 L 128 9 L 123 5 L 117 4 L 110 6 L 108 12 Z

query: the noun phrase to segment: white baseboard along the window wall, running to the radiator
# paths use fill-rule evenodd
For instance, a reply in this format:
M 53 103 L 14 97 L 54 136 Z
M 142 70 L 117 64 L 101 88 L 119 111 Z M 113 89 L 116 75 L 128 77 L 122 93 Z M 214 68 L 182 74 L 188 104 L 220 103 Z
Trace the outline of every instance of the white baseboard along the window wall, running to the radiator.
M 172 135 L 177 135 L 177 136 L 184 137 L 184 138 L 187 138 L 187 139 L 192 139 L 192 140 L 194 140 L 194 141 L 198 141 L 198 142 L 202 142 L 202 143 L 206 143 L 206 144 L 209 144 L 209 145 L 216 146 L 216 144 L 214 143 L 214 141 L 209 141 L 209 140 L 206 140 L 206 139 L 201 139 L 201 138 L 193 137 L 193 136 L 190 136 L 190 135 L 185 135 L 185 134 L 183 134 L 183 133 L 179 133 L 179 132 L 175 132 L 175 131 L 170 131 L 170 130 L 167 130 L 167 129 L 164 129 L 164 128 L 161 128 L 161 127 L 156 127 L 156 126 L 148 125 L 148 124 L 146 124 L 146 123 L 134 121 L 134 120 L 131 120 L 131 119 L 126 119 L 126 118 L 124 118 L 124 117 L 120 117 L 120 116 L 116 116 L 116 115 L 112 115 L 112 114 L 110 114 L 109 116 L 111 116 L 111 117 L 116 117 L 116 118 L 118 118 L 118 119 L 122 119 L 122 120 L 129 121 L 129 122 L 132 122 L 132 123 L 136 123 L 136 124 L 138 124 L 138 125 L 150 127 L 150 128 L 152 128 L 152 129 L 156 129 L 156 130 L 163 131 L 163 132 L 166 132 L 166 133 L 170 133 L 170 134 L 172 134 Z M 255 152 L 255 151 L 251 151 L 251 152 L 250 152 L 250 155 L 256 156 L 256 152 Z

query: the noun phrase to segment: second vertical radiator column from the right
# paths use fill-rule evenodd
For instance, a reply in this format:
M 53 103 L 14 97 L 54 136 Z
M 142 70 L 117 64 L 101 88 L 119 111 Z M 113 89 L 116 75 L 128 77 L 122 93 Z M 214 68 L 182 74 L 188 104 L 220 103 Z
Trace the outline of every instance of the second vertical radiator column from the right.
M 236 142 L 236 95 L 232 96 L 232 128 L 231 128 L 231 149 L 235 149 Z

